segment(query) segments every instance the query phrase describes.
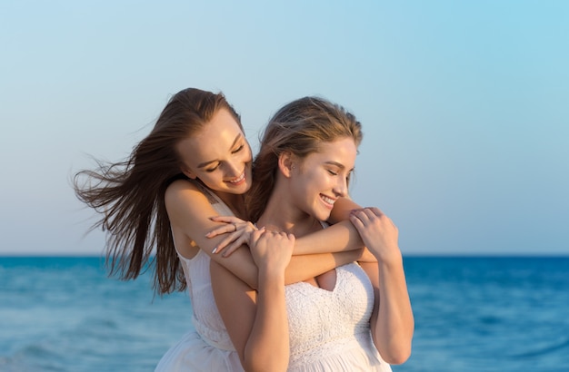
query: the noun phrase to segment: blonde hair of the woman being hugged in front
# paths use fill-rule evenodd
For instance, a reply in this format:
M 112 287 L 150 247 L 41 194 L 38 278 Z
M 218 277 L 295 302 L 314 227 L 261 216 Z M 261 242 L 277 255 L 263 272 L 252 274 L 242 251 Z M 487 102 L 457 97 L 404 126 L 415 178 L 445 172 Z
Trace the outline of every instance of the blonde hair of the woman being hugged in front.
M 322 98 L 304 97 L 288 103 L 269 121 L 261 148 L 253 162 L 253 186 L 246 194 L 249 220 L 261 217 L 275 186 L 278 158 L 291 152 L 304 159 L 319 151 L 322 142 L 353 138 L 356 147 L 362 142 L 362 125 L 342 106 Z

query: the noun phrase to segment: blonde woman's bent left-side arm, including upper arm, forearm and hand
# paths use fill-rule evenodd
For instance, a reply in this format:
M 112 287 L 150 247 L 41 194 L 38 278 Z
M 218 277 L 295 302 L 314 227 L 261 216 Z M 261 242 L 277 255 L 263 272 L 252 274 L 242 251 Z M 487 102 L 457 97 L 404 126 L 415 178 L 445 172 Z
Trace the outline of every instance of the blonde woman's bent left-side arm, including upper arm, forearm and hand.
M 289 359 L 284 269 L 294 236 L 255 231 L 251 246 L 259 268 L 258 291 L 212 261 L 215 302 L 245 370 L 284 371 Z

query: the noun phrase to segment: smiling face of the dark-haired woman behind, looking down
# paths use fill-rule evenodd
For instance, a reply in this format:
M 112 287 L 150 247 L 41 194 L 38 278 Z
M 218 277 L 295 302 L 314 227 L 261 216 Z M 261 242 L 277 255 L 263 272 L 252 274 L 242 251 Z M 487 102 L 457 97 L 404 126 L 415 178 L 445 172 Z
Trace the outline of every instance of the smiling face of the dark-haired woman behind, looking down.
M 245 134 L 225 109 L 176 146 L 182 171 L 213 191 L 243 194 L 251 187 L 252 154 Z

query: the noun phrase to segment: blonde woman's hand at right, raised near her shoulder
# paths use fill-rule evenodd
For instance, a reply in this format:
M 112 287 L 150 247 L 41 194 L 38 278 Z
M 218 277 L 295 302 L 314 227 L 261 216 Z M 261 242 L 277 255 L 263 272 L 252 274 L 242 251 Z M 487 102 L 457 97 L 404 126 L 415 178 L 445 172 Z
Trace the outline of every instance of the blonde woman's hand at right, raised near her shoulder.
M 353 210 L 350 221 L 358 230 L 365 247 L 372 252 L 378 261 L 384 263 L 398 262 L 401 252 L 398 246 L 399 231 L 378 208 Z

